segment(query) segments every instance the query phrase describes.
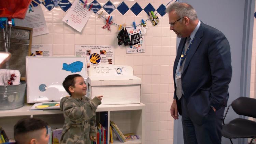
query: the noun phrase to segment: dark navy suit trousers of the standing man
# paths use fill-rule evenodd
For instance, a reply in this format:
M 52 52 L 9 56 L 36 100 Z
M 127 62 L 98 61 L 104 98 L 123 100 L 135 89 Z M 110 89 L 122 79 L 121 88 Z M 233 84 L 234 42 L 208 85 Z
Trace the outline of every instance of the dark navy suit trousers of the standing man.
M 181 97 L 184 144 L 221 144 L 221 129 L 225 107 L 214 112 L 212 107 L 202 125 L 193 123 L 184 95 Z M 209 105 L 210 106 L 210 105 Z

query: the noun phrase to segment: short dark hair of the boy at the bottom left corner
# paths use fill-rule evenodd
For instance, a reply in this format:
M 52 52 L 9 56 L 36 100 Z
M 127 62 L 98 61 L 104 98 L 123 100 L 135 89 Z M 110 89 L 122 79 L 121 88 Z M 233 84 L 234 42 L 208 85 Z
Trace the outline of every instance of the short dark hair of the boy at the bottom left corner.
M 14 139 L 16 144 L 23 143 L 24 140 L 20 138 L 25 138 L 25 135 L 29 132 L 33 132 L 36 130 L 41 130 L 47 128 L 47 123 L 38 118 L 23 118 L 20 119 L 14 126 Z

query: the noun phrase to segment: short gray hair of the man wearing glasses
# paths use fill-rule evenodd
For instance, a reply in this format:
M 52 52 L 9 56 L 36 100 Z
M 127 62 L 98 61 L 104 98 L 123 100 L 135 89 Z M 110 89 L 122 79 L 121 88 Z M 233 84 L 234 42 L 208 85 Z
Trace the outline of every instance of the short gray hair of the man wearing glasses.
M 197 20 L 197 12 L 196 10 L 189 4 L 187 3 L 179 3 L 179 2 L 174 2 L 170 4 L 166 12 L 169 13 L 171 11 L 174 11 L 174 13 L 178 17 L 188 17 L 191 20 Z

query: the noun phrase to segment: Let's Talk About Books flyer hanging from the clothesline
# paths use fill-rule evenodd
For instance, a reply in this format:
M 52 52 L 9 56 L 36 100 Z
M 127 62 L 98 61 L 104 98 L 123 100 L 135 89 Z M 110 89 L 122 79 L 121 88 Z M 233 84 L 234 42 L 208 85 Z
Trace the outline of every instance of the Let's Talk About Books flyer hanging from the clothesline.
M 126 53 L 143 53 L 145 52 L 145 36 L 141 35 L 141 28 L 126 28 L 132 46 L 126 46 Z

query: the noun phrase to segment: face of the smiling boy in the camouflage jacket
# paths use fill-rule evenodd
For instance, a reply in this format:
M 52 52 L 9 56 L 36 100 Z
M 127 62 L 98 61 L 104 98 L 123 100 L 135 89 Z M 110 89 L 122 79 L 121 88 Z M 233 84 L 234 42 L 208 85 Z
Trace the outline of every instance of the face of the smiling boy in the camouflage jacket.
M 74 95 L 76 95 L 76 96 L 86 95 L 87 87 L 86 87 L 83 77 L 75 78 L 75 86 L 73 87 L 73 90 L 74 90 Z

